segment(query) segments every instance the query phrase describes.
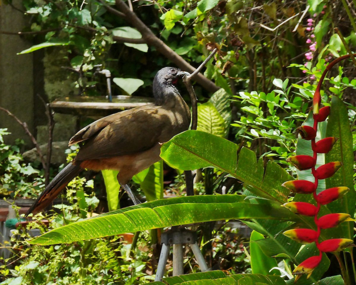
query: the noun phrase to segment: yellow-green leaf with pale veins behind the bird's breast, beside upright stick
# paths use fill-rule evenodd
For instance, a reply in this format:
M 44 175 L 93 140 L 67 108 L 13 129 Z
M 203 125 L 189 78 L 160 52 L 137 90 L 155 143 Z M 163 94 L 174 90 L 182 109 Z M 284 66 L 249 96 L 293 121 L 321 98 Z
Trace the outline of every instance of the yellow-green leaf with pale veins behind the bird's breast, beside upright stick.
M 198 106 L 197 130 L 221 137 L 226 135 L 225 121 L 212 103 L 206 102 Z

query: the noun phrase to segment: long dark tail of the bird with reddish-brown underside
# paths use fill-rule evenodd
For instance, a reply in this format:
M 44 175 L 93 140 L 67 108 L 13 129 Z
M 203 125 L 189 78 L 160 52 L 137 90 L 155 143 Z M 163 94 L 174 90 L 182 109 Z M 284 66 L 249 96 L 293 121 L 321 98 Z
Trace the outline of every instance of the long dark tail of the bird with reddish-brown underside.
M 72 179 L 77 176 L 82 170 L 82 167 L 80 167 L 79 165 L 73 165 L 72 162 L 70 162 L 47 185 L 46 189 L 37 198 L 35 203 L 32 204 L 30 209 L 28 209 L 25 216 L 28 216 L 31 213 L 37 214 L 38 212 L 41 212 L 44 208 L 46 208 L 49 204 L 51 204 L 53 200 L 58 196 L 58 194 L 63 190 L 63 188 L 66 187 L 67 184 L 72 181 Z

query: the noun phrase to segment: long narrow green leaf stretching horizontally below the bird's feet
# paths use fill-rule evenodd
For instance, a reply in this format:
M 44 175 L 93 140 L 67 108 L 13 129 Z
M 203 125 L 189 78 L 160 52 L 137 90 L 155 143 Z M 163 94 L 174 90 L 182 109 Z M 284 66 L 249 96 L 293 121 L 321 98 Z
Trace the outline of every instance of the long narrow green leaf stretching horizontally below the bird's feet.
M 122 233 L 225 219 L 293 220 L 296 215 L 275 203 L 250 204 L 241 195 L 204 195 L 161 199 L 53 229 L 32 244 L 69 243 Z M 177 214 L 177 213 L 184 213 Z

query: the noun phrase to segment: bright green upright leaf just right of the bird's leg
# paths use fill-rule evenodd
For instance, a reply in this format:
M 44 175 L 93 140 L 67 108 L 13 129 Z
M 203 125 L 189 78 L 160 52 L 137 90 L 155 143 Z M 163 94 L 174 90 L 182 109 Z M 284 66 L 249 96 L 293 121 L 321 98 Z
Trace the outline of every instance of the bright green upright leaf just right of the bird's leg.
M 163 161 L 158 161 L 137 173 L 132 180 L 140 184 L 147 201 L 163 198 Z

